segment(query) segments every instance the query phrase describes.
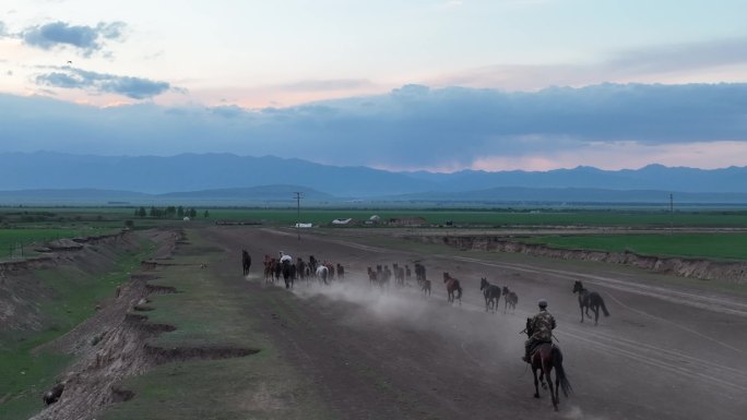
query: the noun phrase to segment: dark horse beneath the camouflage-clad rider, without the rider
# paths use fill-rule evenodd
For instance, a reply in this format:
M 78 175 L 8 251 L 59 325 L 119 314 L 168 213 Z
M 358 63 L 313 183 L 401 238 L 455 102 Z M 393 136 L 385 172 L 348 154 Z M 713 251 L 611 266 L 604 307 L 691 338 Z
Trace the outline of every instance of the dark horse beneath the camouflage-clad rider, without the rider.
M 529 337 L 534 333 L 532 331 L 531 317 L 526 319 L 526 328 L 524 328 L 524 332 L 526 332 Z M 566 397 L 568 397 L 568 393 L 573 391 L 570 386 L 570 382 L 568 382 L 568 377 L 566 377 L 566 371 L 562 369 L 562 352 L 560 351 L 560 348 L 552 343 L 542 343 L 532 350 L 530 361 L 532 362 L 532 374 L 534 374 L 534 398 L 540 398 L 540 387 L 537 384 L 542 382 L 543 389 L 549 387 L 553 408 L 557 411 L 558 404 L 560 403 L 558 391 L 562 389 L 562 394 Z M 555 369 L 555 387 L 553 387 L 553 379 L 550 376 L 553 369 Z M 537 371 L 540 371 L 538 381 Z M 546 385 L 545 379 L 547 379 Z

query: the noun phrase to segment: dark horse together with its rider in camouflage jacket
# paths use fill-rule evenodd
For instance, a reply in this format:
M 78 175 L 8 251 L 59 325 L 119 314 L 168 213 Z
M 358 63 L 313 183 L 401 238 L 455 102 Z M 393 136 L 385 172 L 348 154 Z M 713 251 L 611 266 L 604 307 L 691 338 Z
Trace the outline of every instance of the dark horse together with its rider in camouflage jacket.
M 540 398 L 538 384 L 542 383 L 543 389 L 549 387 L 553 408 L 557 411 L 558 404 L 560 403 L 560 397 L 558 395 L 559 389 L 562 389 L 562 394 L 568 397 L 568 394 L 572 392 L 572 388 L 566 376 L 566 371 L 562 368 L 562 352 L 560 351 L 560 348 L 555 346 L 552 341 L 555 319 L 545 311 L 546 307 L 547 302 L 541 300 L 540 313 L 534 315 L 534 317 L 526 319 L 526 328 L 524 328 L 524 332 L 529 336 L 529 339 L 525 344 L 525 350 L 527 352 L 531 351 L 531 355 L 524 361 L 532 364 L 532 374 L 534 375 L 534 398 Z M 530 346 L 532 349 L 529 349 Z M 526 356 L 524 357 L 526 358 Z M 553 385 L 553 377 L 550 376 L 553 369 L 555 369 L 555 386 Z M 537 371 L 540 371 L 538 380 Z M 545 384 L 545 379 L 547 379 L 547 384 Z

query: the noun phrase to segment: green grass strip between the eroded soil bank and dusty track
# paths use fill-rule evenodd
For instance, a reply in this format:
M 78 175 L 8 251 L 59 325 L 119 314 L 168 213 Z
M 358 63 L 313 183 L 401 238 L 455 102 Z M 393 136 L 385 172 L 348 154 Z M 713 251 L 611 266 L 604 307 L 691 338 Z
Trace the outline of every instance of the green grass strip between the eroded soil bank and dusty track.
M 177 250 L 174 263 L 208 263 L 225 257 L 222 250 L 188 233 L 190 244 Z M 103 419 L 328 419 L 313 384 L 297 375 L 260 332 L 250 308 L 261 296 L 247 293 L 239 273 L 170 266 L 154 283 L 179 293 L 152 296 L 151 322 L 177 327 L 153 340 L 165 348 L 238 347 L 256 355 L 223 360 L 163 364 L 128 380 L 135 393 L 116 404 Z

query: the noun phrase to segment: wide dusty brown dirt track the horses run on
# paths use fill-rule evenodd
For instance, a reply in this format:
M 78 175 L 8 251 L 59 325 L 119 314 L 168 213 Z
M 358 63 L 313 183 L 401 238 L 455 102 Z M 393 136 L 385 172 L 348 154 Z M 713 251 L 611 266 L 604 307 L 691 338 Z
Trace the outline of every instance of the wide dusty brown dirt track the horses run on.
M 676 280 L 598 263 L 523 255 L 405 251 L 334 236 L 245 227 L 200 232 L 226 251 L 246 293 L 284 296 L 247 308 L 282 357 L 312 377 L 342 419 L 745 419 L 747 418 L 747 300 L 703 292 Z M 241 249 L 253 259 L 240 274 Z M 265 285 L 261 260 L 282 250 L 341 263 L 346 278 L 332 286 L 296 284 L 292 292 Z M 371 289 L 366 267 L 420 261 L 434 292 L 414 286 Z M 442 272 L 459 278 L 462 304 L 447 304 Z M 485 312 L 479 278 L 519 295 L 514 314 Z M 612 313 L 580 323 L 573 279 L 601 292 Z M 293 293 L 293 295 L 290 295 Z M 556 316 L 556 336 L 573 386 L 560 411 L 532 397 L 532 373 L 520 356 L 519 332 L 540 298 Z M 503 301 L 500 301 L 502 310 Z

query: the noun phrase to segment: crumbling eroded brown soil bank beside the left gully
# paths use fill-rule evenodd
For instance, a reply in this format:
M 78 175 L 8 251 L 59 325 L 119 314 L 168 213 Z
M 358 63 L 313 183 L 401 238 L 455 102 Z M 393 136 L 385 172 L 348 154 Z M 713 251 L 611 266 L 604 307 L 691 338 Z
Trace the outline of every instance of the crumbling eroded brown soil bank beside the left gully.
M 145 305 L 150 295 L 179 292 L 174 287 L 151 285 L 150 280 L 158 277 L 156 267 L 169 265 L 162 264 L 161 260 L 170 259 L 182 238 L 180 232 L 162 235 L 154 259 L 141 265 L 146 272 L 132 275 L 130 281 L 120 287 L 116 299 L 102 304 L 93 317 L 47 345 L 74 353 L 78 361 L 60 377 L 64 381 L 64 391 L 59 401 L 32 420 L 93 419 L 111 404 L 137 398 L 132 391 L 121 387 L 128 376 L 171 361 L 235 358 L 258 351 L 224 347 L 166 349 L 151 344 L 159 334 L 177 329 L 173 325 L 150 322 L 143 311 L 154 309 Z

